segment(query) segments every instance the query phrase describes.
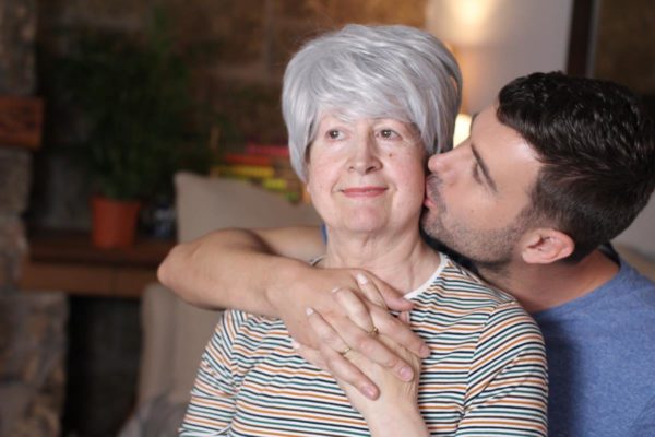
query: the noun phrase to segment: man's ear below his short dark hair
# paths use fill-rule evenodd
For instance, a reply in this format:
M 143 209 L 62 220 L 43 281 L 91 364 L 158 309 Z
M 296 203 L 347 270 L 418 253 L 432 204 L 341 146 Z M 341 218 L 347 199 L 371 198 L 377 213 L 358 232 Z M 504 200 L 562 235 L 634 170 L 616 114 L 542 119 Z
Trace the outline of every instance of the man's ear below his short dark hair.
M 522 239 L 521 257 L 528 264 L 550 264 L 567 258 L 575 249 L 569 235 L 549 227 L 529 231 Z

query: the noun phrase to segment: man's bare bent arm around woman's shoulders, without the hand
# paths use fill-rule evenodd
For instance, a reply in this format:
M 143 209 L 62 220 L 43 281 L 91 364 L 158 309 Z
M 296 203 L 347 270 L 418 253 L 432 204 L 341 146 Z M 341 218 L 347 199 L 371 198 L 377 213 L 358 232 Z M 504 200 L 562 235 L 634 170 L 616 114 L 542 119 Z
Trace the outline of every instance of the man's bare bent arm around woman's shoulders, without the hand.
M 223 229 L 174 247 L 157 276 L 200 307 L 279 316 L 270 293 L 311 271 L 307 260 L 324 250 L 318 227 Z

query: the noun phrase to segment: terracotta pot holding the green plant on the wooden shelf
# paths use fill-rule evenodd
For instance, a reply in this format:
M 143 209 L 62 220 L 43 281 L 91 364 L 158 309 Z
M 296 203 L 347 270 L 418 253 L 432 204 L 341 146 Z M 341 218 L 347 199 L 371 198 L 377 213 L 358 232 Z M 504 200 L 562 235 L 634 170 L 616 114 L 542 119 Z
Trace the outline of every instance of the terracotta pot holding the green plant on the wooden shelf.
M 103 249 L 132 246 L 140 208 L 141 202 L 135 200 L 94 196 L 91 199 L 93 245 Z

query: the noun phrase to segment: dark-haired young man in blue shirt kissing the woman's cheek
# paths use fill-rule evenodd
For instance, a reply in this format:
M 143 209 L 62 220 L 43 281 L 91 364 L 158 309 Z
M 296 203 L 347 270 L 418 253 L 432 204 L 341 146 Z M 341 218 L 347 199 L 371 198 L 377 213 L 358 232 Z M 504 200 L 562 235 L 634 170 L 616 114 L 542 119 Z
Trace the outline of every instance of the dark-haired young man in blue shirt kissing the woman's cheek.
M 467 141 L 428 166 L 424 231 L 513 294 L 543 330 L 550 435 L 654 435 L 655 284 L 600 249 L 655 187 L 653 121 L 634 96 L 561 73 L 520 78 L 478 115 Z M 321 249 L 312 229 L 225 231 L 174 249 L 160 280 L 191 302 L 279 316 L 301 343 L 327 347 L 303 329 L 311 307 L 310 318 L 334 330 L 322 338 L 340 335 L 407 377 L 365 327 L 372 321 L 417 354 L 420 341 L 353 291 L 359 282 L 378 303 L 379 291 L 388 306 L 408 306 L 370 274 L 361 281 L 360 271 L 312 271 L 298 261 Z M 334 287 L 340 292 L 329 293 Z M 338 316 L 340 305 L 352 322 Z M 347 359 L 324 364 L 377 395 Z

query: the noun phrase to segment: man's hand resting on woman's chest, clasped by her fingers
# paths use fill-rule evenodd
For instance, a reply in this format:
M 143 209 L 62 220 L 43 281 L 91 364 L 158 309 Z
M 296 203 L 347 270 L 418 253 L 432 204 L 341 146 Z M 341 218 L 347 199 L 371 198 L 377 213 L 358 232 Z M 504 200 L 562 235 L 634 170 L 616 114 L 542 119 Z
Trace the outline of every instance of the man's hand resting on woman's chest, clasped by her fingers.
M 289 293 L 271 298 L 294 339 L 301 343 L 299 353 L 369 399 L 379 397 L 378 387 L 340 352 L 357 351 L 398 379 L 410 381 L 416 376 L 413 366 L 372 333 L 377 330 L 418 357 L 429 355 L 420 338 L 388 310 L 407 311 L 412 303 L 364 270 L 308 269 L 296 275 L 293 299 Z

